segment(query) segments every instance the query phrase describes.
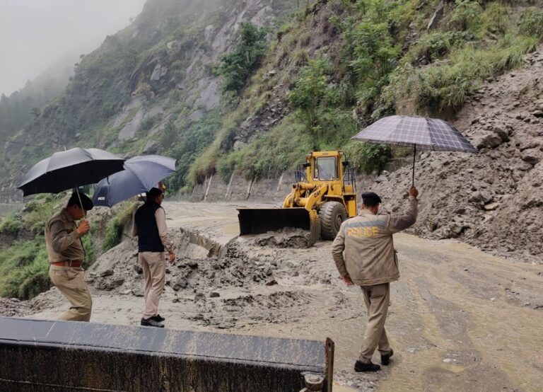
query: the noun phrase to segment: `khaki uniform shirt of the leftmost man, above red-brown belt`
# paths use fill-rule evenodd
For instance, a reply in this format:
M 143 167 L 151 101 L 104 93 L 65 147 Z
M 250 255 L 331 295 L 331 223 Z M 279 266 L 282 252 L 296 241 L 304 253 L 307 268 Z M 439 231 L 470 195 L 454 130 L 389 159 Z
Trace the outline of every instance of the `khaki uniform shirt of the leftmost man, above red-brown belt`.
M 76 221 L 63 208 L 45 224 L 45 243 L 49 263 L 85 260 L 83 243 L 76 231 Z

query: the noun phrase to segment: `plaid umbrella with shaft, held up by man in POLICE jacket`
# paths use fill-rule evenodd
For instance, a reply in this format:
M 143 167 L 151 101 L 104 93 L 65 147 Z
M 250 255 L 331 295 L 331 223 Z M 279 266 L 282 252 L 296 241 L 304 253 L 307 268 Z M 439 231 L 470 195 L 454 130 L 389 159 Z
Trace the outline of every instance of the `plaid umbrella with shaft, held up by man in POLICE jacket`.
M 413 146 L 413 184 L 415 182 L 416 149 L 477 153 L 462 134 L 443 120 L 428 117 L 394 115 L 384 117 L 358 132 L 354 140 L 363 142 Z

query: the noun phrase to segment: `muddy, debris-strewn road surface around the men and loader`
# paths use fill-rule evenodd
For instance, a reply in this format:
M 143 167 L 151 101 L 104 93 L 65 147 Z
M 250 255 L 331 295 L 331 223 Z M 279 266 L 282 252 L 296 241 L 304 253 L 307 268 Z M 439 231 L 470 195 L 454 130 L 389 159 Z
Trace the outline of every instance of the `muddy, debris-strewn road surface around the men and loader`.
M 339 279 L 330 242 L 304 233 L 236 238 L 235 204 L 164 204 L 177 260 L 160 314 L 167 328 L 324 340 L 336 344 L 336 391 L 542 391 L 543 266 L 452 240 L 398 234 L 401 278 L 392 284 L 387 333 L 395 350 L 375 374 L 353 370 L 366 325 L 358 287 Z M 134 241 L 88 272 L 91 321 L 138 325 L 143 279 Z M 52 289 L 4 313 L 54 318 Z M 378 353 L 373 358 L 380 362 Z

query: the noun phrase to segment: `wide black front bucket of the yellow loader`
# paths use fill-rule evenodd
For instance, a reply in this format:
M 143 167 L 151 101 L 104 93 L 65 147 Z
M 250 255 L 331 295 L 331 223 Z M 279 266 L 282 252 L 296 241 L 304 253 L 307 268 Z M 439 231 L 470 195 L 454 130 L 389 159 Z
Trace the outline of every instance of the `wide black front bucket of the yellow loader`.
M 284 227 L 310 229 L 310 213 L 303 207 L 294 208 L 238 208 L 240 236 L 263 234 Z

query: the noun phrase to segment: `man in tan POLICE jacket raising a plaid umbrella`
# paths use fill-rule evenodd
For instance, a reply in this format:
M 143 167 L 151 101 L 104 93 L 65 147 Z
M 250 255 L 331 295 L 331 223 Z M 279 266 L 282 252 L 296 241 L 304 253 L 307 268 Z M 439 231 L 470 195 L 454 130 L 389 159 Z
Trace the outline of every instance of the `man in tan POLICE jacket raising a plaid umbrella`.
M 357 217 L 347 219 L 332 244 L 332 255 L 344 283 L 358 284 L 368 309 L 368 326 L 364 342 L 354 364 L 355 371 L 378 371 L 371 362 L 378 348 L 381 363 L 389 364 L 394 352 L 385 332 L 390 301 L 390 282 L 399 279 L 398 260 L 392 234 L 412 226 L 416 221 L 419 191 L 409 190 L 407 214 L 392 217 L 378 215 L 381 199 L 373 192 L 362 194 L 362 208 Z

